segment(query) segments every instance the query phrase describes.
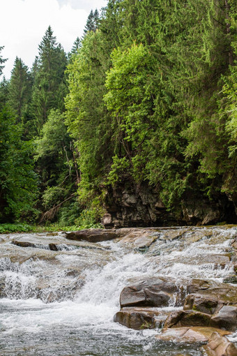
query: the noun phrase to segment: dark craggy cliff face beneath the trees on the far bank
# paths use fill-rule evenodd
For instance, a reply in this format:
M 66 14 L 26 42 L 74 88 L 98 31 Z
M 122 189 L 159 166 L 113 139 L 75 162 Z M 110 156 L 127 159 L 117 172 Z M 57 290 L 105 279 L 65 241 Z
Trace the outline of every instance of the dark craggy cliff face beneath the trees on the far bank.
M 145 184 L 109 189 L 105 209 L 102 223 L 106 228 L 237 223 L 234 202 L 227 195 L 217 195 L 212 201 L 201 194 L 186 195 L 174 212 L 169 212 L 159 194 Z

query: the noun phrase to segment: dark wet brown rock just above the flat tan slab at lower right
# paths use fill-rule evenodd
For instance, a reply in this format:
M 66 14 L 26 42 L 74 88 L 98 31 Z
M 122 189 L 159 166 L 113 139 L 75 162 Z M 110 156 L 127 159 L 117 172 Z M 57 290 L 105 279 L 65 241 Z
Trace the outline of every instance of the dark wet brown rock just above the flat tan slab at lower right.
M 165 327 L 208 327 L 210 323 L 209 314 L 199 311 L 173 311 L 165 320 Z

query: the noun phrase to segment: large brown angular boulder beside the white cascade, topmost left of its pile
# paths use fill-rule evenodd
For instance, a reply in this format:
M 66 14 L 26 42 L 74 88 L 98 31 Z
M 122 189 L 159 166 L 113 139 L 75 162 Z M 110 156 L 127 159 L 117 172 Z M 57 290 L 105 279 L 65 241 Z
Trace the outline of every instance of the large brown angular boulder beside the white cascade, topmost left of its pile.
M 174 282 L 164 278 L 151 278 L 123 288 L 120 304 L 123 306 L 168 306 L 178 291 Z

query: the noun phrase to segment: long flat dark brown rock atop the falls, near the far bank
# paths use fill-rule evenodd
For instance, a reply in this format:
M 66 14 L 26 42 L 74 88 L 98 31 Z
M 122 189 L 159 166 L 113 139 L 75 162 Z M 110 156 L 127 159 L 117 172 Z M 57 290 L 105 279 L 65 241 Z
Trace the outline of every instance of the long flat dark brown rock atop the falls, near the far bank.
M 106 229 L 88 229 L 66 233 L 66 239 L 76 241 L 86 240 L 88 242 L 102 242 L 116 239 L 116 237 L 119 237 L 116 230 Z

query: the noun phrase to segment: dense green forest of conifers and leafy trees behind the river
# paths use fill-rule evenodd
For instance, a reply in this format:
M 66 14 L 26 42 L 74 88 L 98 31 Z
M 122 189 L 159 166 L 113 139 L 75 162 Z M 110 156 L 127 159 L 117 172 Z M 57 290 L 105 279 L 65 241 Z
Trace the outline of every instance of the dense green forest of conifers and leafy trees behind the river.
M 236 55 L 236 0 L 108 0 L 68 54 L 49 26 L 1 75 L 0 223 L 91 226 L 144 186 L 173 223 L 236 223 Z

